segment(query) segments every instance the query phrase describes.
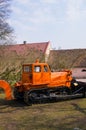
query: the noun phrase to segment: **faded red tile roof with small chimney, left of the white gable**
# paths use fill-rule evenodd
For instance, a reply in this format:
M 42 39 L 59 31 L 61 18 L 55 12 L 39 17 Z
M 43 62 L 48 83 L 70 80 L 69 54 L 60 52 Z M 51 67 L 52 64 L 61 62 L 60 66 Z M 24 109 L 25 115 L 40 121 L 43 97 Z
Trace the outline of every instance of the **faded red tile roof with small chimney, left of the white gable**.
M 15 45 L 7 45 L 6 50 L 15 51 L 17 55 L 26 54 L 28 50 L 38 50 L 42 53 L 46 53 L 46 49 L 50 42 L 39 42 L 39 43 L 25 43 L 25 44 L 15 44 Z M 5 50 L 5 51 L 6 51 Z

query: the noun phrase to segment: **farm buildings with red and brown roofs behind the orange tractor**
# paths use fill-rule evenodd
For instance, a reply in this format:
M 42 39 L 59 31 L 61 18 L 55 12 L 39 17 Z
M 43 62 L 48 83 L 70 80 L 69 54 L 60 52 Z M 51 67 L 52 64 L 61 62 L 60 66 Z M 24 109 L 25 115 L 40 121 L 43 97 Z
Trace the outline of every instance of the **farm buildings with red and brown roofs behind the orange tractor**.
M 52 50 L 50 41 L 0 46 L 0 70 L 20 66 L 36 58 L 55 70 L 72 69 L 73 77 L 86 78 L 86 49 Z

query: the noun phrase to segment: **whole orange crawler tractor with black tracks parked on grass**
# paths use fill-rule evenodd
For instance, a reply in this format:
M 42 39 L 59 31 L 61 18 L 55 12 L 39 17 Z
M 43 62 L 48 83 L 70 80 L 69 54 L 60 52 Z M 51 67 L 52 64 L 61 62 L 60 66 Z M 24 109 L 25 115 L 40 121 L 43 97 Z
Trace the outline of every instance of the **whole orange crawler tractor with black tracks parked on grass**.
M 86 83 L 72 78 L 70 70 L 51 72 L 47 63 L 36 61 L 22 66 L 21 81 L 14 86 L 14 98 L 24 100 L 31 105 L 34 102 L 73 97 L 81 94 L 85 96 Z

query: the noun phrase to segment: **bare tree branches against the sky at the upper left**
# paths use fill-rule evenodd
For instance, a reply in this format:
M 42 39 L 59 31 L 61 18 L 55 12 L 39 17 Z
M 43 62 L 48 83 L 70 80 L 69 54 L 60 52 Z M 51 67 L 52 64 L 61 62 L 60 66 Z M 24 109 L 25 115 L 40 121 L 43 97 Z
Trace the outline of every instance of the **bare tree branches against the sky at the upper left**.
M 0 0 L 0 44 L 6 43 L 11 38 L 13 29 L 10 27 L 7 19 L 10 14 L 11 0 Z

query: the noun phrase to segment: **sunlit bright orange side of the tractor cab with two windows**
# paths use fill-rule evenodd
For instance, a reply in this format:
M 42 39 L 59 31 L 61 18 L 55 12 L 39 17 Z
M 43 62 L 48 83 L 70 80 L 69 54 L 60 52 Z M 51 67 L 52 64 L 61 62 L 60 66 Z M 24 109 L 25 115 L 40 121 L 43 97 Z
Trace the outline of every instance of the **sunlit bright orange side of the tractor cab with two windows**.
M 33 85 L 47 85 L 51 80 L 51 72 L 47 64 L 34 65 Z

